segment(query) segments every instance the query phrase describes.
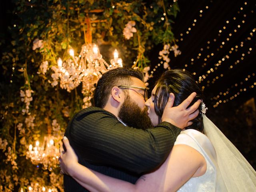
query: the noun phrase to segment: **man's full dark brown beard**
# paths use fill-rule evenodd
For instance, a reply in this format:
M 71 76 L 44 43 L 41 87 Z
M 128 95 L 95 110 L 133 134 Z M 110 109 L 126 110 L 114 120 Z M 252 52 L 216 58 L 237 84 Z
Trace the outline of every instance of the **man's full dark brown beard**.
M 143 130 L 153 128 L 153 124 L 148 117 L 147 110 L 146 106 L 142 110 L 129 95 L 126 95 L 124 103 L 118 112 L 118 118 L 120 118 L 120 120 L 127 126 L 133 128 Z

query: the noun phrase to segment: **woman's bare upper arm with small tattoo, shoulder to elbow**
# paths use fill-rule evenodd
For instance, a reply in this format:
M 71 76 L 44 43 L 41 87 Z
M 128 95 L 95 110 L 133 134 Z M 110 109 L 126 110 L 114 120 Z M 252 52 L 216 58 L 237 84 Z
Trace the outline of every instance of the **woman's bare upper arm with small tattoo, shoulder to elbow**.
M 138 180 L 136 189 L 140 191 L 177 191 L 191 177 L 202 176 L 206 172 L 204 157 L 194 148 L 175 145 L 160 168 Z

